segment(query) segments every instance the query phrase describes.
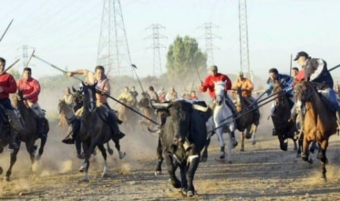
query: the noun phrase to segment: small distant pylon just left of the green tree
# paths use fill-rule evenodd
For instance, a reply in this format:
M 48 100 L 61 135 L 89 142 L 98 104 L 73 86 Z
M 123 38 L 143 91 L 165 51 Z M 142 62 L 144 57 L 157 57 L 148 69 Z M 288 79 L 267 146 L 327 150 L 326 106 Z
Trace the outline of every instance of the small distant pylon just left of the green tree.
M 149 47 L 153 49 L 153 76 L 162 75 L 162 63 L 160 59 L 160 49 L 165 49 L 165 46 L 160 44 L 160 39 L 166 38 L 164 35 L 160 35 L 160 29 L 165 27 L 160 24 L 151 24 L 146 29 L 152 29 L 152 35 L 146 37 L 146 39 L 152 39 L 153 44 Z

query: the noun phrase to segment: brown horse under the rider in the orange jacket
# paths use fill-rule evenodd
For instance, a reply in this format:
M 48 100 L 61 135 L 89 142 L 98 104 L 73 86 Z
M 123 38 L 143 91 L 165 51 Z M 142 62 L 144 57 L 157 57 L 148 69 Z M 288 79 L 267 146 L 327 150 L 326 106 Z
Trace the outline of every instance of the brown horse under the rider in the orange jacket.
M 250 106 L 250 103 L 246 101 L 246 98 L 242 96 L 242 89 L 235 89 L 237 91 L 235 93 L 236 100 L 236 109 L 237 112 L 241 112 L 242 110 L 246 110 Z M 256 126 L 254 124 L 254 116 L 253 112 L 248 112 L 247 114 L 239 114 L 241 117 L 239 118 L 238 129 L 241 132 L 242 143 L 241 143 L 241 151 L 244 151 L 244 130 L 246 130 L 246 139 L 252 139 L 253 145 L 255 145 L 255 133 Z M 260 117 L 260 116 L 259 116 Z

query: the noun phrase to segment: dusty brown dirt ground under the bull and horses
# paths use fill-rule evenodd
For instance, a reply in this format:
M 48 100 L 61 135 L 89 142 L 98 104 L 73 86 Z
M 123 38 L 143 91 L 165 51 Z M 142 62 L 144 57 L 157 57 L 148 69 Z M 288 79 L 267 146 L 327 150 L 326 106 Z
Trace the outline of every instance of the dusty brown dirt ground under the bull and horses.
M 137 128 L 139 130 L 139 128 Z M 56 123 L 44 155 L 30 171 L 28 154 L 22 145 L 10 182 L 0 180 L 0 200 L 182 200 L 178 189 L 169 184 L 167 171 L 155 177 L 157 136 L 146 132 L 127 134 L 121 141 L 126 158 L 119 160 L 117 150 L 108 157 L 110 177 L 101 177 L 101 155 L 92 157 L 90 182 L 78 167 L 74 146 L 62 144 L 65 137 Z M 239 139 L 239 135 L 237 136 Z M 239 139 L 240 142 L 240 139 Z M 213 137 L 209 158 L 201 163 L 194 185 L 198 195 L 187 200 L 340 200 L 340 137 L 333 135 L 328 148 L 328 182 L 321 180 L 321 164 L 310 165 L 296 157 L 289 141 L 289 151 L 279 150 L 278 139 L 271 136 L 271 122 L 264 121 L 257 132 L 257 143 L 246 141 L 245 152 L 237 146 L 232 164 L 215 161 L 218 143 Z M 5 174 L 9 152 L 0 156 Z

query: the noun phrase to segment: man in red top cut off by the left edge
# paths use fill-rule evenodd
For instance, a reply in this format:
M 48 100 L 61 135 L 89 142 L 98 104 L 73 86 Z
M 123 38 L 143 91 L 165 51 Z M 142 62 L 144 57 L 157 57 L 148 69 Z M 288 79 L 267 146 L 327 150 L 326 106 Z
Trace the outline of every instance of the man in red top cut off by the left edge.
M 12 107 L 10 103 L 9 94 L 17 91 L 17 83 L 12 75 L 4 72 L 6 60 L 0 58 L 0 105 L 3 107 L 4 112 L 10 124 L 10 149 L 19 148 L 17 142 L 17 135 L 23 129 L 22 123 L 19 119 L 19 113 Z

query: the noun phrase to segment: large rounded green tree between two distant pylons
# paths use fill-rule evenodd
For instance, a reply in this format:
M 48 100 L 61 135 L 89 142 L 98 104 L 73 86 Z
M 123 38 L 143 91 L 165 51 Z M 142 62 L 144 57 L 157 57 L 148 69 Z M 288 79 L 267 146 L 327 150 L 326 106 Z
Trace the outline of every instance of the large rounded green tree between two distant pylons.
M 167 70 L 170 78 L 186 78 L 206 69 L 207 55 L 198 48 L 198 43 L 192 37 L 177 36 L 169 46 L 167 53 Z

